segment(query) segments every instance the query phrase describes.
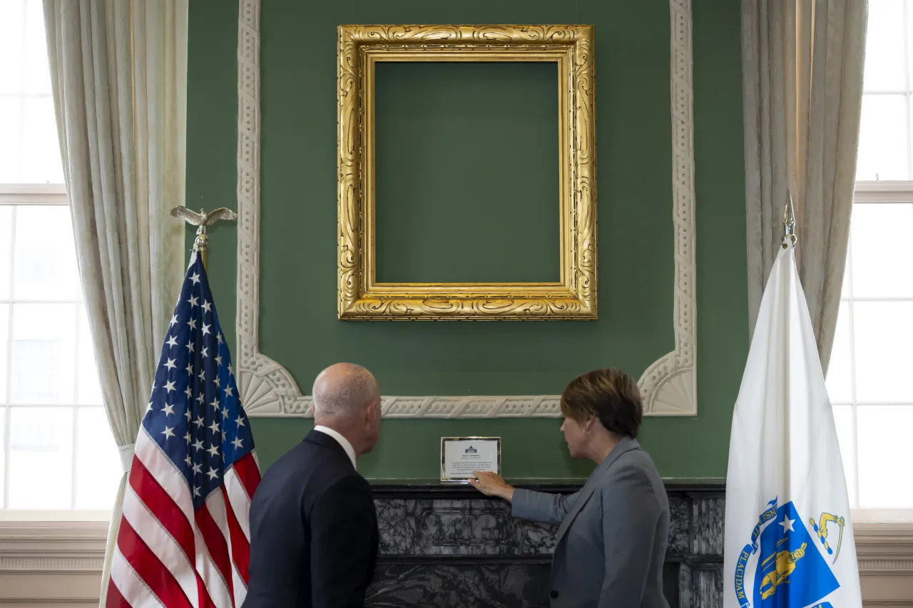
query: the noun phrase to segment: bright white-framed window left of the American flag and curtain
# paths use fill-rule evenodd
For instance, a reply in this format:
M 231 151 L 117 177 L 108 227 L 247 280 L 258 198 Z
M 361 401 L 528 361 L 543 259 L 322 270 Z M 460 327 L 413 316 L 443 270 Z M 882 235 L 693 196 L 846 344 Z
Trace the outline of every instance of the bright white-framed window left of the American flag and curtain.
M 101 405 L 58 148 L 41 0 L 0 3 L 0 519 L 107 519 Z

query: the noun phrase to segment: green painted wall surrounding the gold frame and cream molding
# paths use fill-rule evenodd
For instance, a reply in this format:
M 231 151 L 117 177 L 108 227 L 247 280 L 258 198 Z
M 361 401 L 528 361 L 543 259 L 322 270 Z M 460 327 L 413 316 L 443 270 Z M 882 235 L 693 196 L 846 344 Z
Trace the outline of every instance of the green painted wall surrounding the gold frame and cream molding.
M 187 204 L 193 207 L 236 204 L 236 11 L 236 3 L 221 0 L 190 6 Z M 343 23 L 596 26 L 599 320 L 336 320 L 335 42 Z M 305 393 L 322 367 L 346 360 L 371 368 L 385 394 L 555 394 L 594 367 L 616 365 L 639 376 L 671 350 L 666 0 L 269 0 L 262 34 L 261 350 Z M 649 418 L 641 436 L 662 475 L 676 478 L 725 476 L 731 409 L 748 351 L 738 3 L 695 3 L 694 52 L 699 414 Z M 530 77 L 529 84 L 544 82 Z M 530 230 L 549 229 L 535 224 L 540 221 L 530 220 Z M 408 230 L 385 226 L 392 234 Z M 212 242 L 210 278 L 233 338 L 235 227 L 217 227 Z M 381 443 L 359 467 L 373 479 L 434 478 L 441 435 L 500 435 L 506 477 L 585 477 L 592 466 L 567 456 L 559 425 L 385 420 Z M 257 419 L 253 428 L 268 465 L 299 441 L 310 421 Z

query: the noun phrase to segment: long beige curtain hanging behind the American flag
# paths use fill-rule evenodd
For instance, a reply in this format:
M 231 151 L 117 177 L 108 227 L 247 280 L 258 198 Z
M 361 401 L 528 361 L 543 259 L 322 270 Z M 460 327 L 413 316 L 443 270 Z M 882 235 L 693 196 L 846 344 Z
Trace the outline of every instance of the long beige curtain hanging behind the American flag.
M 45 0 L 47 50 L 79 274 L 124 475 L 181 288 L 187 0 Z

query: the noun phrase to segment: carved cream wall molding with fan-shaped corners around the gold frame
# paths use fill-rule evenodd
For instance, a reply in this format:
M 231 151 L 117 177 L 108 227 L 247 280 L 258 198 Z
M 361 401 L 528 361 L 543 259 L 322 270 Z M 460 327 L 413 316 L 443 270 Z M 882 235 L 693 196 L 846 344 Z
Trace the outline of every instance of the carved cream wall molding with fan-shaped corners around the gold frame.
M 247 414 L 310 417 L 311 399 L 259 351 L 260 0 L 239 0 L 237 47 L 237 380 Z M 695 415 L 694 120 L 691 1 L 670 0 L 675 350 L 640 378 L 647 415 Z M 559 417 L 557 395 L 383 397 L 383 415 L 402 418 Z

